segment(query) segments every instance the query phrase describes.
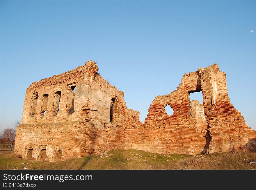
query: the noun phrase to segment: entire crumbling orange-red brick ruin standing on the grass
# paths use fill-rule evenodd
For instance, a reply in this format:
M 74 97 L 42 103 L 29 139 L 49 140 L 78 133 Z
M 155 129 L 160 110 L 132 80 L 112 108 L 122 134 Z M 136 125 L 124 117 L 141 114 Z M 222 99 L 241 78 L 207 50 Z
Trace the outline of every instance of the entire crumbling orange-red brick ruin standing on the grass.
M 157 96 L 145 123 L 126 107 L 124 92 L 88 61 L 60 75 L 33 82 L 26 90 L 15 154 L 59 161 L 111 149 L 199 154 L 248 147 L 256 132 L 230 103 L 225 73 L 217 64 L 186 73 L 175 91 Z M 202 91 L 203 104 L 189 95 Z M 173 108 L 173 115 L 165 111 Z

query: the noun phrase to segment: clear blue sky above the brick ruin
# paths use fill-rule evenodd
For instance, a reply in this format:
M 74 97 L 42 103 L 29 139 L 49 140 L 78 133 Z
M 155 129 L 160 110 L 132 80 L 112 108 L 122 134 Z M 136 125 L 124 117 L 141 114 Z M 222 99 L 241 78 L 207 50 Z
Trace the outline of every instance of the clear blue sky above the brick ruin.
M 157 95 L 174 91 L 185 73 L 217 63 L 231 103 L 256 130 L 255 10 L 255 0 L 1 0 L 0 130 L 21 119 L 32 82 L 88 60 L 125 92 L 142 122 Z

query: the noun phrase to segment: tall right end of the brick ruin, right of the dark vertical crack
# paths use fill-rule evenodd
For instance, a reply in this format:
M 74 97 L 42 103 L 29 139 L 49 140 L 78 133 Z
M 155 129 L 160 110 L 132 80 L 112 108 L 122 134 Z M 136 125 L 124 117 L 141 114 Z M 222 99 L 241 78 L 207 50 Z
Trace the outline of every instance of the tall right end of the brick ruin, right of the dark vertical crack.
M 243 116 L 230 103 L 226 74 L 217 64 L 199 68 L 203 92 L 203 104 L 211 135 L 209 152 L 223 152 L 247 146 L 256 148 L 256 133 L 249 128 Z

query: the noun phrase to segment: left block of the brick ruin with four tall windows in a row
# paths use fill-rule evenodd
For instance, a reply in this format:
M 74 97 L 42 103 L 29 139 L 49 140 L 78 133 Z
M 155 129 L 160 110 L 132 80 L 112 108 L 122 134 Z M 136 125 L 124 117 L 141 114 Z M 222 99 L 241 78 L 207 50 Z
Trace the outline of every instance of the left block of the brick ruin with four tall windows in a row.
M 16 154 L 49 161 L 97 154 L 119 148 L 119 132 L 143 125 L 139 112 L 126 108 L 124 92 L 97 71 L 95 62 L 88 61 L 27 88 L 22 124 L 16 133 Z

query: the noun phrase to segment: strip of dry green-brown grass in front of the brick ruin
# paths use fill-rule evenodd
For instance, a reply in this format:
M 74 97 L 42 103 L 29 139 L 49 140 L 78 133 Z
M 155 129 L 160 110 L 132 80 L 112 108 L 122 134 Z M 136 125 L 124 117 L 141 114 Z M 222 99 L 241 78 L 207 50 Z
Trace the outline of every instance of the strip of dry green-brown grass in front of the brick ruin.
M 256 164 L 248 162 L 256 162 L 256 153 L 248 150 L 209 155 L 178 155 L 117 149 L 107 152 L 107 155 L 87 156 L 61 162 L 21 159 L 8 151 L 3 152 L 5 154 L 0 154 L 0 169 L 256 169 Z

